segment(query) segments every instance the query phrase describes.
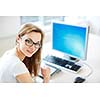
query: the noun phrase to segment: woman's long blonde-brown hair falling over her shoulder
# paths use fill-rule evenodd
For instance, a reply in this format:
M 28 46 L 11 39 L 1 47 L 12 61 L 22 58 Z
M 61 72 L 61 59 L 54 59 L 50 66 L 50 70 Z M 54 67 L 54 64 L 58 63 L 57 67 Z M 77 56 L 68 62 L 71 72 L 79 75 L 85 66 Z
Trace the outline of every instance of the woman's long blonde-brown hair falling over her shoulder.
M 42 45 L 43 45 L 44 34 L 43 34 L 42 30 L 40 28 L 38 28 L 37 26 L 35 26 L 31 23 L 27 23 L 21 27 L 20 31 L 18 32 L 18 37 L 22 37 L 25 34 L 29 34 L 30 32 L 39 32 L 41 34 L 41 41 L 40 41 L 41 48 L 39 48 L 39 50 L 35 54 L 33 54 L 32 57 L 25 57 L 25 59 L 23 60 L 23 63 L 26 65 L 26 67 L 28 68 L 31 75 L 33 73 L 34 76 L 37 76 L 39 68 L 40 68 L 41 49 L 42 49 Z

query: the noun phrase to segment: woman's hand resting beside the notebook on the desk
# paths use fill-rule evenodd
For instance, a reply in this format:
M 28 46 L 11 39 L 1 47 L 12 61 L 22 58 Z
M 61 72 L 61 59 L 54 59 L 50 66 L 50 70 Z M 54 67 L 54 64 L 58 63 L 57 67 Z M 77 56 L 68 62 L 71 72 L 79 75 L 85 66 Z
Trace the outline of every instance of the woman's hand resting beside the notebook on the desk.
M 50 68 L 49 67 L 44 67 L 41 68 L 41 74 L 43 75 L 44 78 L 44 83 L 48 83 L 50 80 Z

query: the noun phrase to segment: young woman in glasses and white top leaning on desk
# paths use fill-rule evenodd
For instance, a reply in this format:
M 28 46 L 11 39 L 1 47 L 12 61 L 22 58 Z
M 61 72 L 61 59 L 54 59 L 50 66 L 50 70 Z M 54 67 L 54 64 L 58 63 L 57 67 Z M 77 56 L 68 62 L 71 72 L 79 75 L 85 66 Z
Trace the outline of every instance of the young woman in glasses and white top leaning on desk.
M 33 24 L 25 24 L 18 32 L 16 46 L 0 59 L 0 82 L 31 83 L 39 70 L 48 82 L 50 69 L 40 67 L 43 32 Z

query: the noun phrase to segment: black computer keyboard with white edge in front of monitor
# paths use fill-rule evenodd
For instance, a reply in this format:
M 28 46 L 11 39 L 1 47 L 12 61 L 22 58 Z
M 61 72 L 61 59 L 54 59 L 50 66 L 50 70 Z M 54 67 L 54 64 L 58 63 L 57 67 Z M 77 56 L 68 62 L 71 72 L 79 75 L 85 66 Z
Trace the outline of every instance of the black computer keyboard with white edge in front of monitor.
M 45 58 L 43 58 L 43 60 L 47 64 L 48 63 L 53 64 L 54 66 L 58 65 L 62 68 L 69 69 L 74 72 L 78 72 L 79 69 L 81 68 L 80 65 L 76 65 L 74 62 L 71 62 L 71 61 L 68 61 L 68 60 L 53 56 L 53 55 L 47 55 Z

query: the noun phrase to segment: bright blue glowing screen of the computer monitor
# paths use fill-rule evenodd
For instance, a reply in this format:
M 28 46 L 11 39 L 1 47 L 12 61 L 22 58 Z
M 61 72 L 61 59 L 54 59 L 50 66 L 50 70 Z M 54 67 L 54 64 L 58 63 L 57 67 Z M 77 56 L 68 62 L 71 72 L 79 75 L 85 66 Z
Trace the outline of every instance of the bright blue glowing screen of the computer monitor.
M 53 23 L 53 49 L 74 58 L 86 59 L 87 28 Z

